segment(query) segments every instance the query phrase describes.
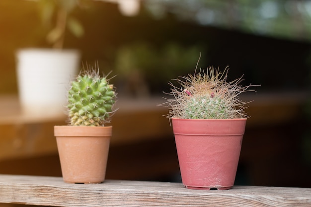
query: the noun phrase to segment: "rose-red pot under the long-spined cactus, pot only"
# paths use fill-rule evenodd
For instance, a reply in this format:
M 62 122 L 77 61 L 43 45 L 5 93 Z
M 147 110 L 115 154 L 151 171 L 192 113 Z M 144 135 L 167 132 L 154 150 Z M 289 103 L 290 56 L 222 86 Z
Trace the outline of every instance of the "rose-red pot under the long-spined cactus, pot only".
M 172 119 L 182 183 L 190 189 L 233 187 L 246 119 Z

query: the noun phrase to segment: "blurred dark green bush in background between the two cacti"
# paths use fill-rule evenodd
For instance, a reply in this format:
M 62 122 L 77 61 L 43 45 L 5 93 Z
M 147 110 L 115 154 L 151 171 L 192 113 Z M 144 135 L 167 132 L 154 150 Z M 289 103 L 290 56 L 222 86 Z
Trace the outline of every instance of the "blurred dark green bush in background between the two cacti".
M 115 72 L 118 78 L 132 81 L 135 84 L 144 78 L 148 91 L 161 91 L 163 83 L 178 75 L 192 73 L 199 60 L 200 53 L 205 53 L 203 45 L 182 46 L 177 42 L 169 42 L 158 48 L 148 42 L 135 42 L 119 48 L 115 59 Z M 206 63 L 201 60 L 200 63 Z M 129 87 L 121 85 L 122 88 Z M 137 83 L 138 84 L 138 83 Z M 139 87 L 139 86 L 138 86 Z

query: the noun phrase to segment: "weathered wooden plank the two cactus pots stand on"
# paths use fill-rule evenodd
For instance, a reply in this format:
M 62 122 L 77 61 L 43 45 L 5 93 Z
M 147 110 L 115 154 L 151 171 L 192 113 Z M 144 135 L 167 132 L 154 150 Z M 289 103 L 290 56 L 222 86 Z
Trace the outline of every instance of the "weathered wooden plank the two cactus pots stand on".
M 0 175 L 0 203 L 62 207 L 310 207 L 311 189 L 234 186 L 190 190 L 181 183 L 106 180 L 67 184 L 61 177 Z

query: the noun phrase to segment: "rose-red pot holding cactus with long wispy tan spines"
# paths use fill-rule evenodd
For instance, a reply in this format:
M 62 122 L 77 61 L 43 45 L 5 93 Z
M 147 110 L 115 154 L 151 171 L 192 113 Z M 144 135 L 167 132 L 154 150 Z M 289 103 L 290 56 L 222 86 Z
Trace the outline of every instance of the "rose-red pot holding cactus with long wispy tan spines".
M 249 91 L 241 78 L 227 82 L 224 72 L 209 67 L 177 79 L 162 106 L 175 136 L 181 178 L 190 189 L 225 190 L 233 187 L 244 135 L 246 102 L 238 95 Z

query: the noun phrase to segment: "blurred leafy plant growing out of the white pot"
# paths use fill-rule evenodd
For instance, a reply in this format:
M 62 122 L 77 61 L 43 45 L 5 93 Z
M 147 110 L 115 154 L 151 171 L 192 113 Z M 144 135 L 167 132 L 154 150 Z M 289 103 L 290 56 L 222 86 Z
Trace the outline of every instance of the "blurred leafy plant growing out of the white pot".
M 66 29 L 76 37 L 84 34 L 82 24 L 72 15 L 74 9 L 81 5 L 81 0 L 38 0 L 42 24 L 52 27 L 46 40 L 53 45 L 53 48 L 63 48 Z

